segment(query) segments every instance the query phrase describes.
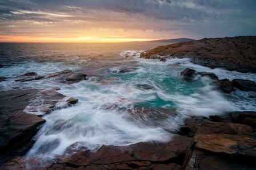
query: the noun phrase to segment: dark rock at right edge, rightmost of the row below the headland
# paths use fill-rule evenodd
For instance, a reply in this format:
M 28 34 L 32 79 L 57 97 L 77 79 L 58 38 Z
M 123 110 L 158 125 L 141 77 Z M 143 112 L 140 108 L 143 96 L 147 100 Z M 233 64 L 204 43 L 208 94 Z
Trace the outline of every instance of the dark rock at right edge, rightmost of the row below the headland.
M 256 92 L 256 83 L 254 81 L 234 79 L 232 85 L 239 90 Z

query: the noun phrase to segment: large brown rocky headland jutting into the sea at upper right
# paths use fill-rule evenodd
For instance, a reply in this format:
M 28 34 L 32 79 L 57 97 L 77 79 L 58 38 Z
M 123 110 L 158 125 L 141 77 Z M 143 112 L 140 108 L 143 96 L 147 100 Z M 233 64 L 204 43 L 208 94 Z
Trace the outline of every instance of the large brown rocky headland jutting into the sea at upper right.
M 256 36 L 205 38 L 159 46 L 141 53 L 146 59 L 191 58 L 194 64 L 229 71 L 256 72 Z

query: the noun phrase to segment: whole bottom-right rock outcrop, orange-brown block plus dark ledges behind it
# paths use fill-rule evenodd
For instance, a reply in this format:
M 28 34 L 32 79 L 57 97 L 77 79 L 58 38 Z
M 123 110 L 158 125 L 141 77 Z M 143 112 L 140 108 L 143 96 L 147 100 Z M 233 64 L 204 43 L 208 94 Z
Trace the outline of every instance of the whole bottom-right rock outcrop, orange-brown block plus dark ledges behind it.
M 182 169 L 255 169 L 255 127 L 245 121 L 255 115 L 255 111 L 235 111 L 187 119 L 181 133 L 194 137 L 194 142 Z

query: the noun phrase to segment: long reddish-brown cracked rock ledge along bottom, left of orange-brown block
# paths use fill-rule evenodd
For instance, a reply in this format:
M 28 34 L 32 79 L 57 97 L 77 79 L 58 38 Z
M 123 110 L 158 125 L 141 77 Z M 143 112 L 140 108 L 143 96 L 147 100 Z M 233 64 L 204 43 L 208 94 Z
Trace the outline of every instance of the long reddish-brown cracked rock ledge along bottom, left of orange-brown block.
M 129 146 L 101 146 L 97 151 L 82 148 L 75 143 L 59 156 L 54 164 L 46 163 L 45 169 L 181 169 L 181 164 L 192 138 L 174 135 L 169 143 L 140 142 Z M 29 157 L 33 159 L 33 157 Z M 18 157 L 3 165 L 5 168 L 24 167 L 24 157 Z M 30 163 L 31 169 L 39 168 L 37 160 Z

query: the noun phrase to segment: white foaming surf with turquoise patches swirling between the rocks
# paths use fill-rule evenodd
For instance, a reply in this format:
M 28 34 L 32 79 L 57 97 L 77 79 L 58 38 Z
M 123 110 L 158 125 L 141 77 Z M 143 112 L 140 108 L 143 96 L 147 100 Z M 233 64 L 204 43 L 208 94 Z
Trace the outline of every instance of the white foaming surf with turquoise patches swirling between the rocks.
M 123 146 L 137 142 L 167 142 L 171 138 L 170 131 L 187 117 L 207 117 L 227 111 L 247 110 L 246 107 L 255 108 L 255 103 L 248 98 L 242 102 L 240 99 L 230 100 L 229 97 L 234 98 L 237 92 L 223 94 L 207 77 L 195 82 L 181 80 L 179 73 L 186 67 L 210 71 L 190 63 L 189 59 L 170 59 L 166 62 L 138 59 L 135 65 L 110 68 L 110 73 L 101 81 L 81 81 L 62 86 L 60 93 L 78 98 L 79 102 L 44 117 L 46 123 L 35 136 L 37 142 L 28 155 L 60 155 L 75 142 L 83 142 L 91 150 L 102 144 Z M 133 68 L 133 71 L 118 73 L 124 68 Z M 211 71 L 221 74 L 223 70 Z M 250 74 L 247 75 L 250 77 Z M 145 84 L 152 88 L 143 89 Z M 244 95 L 239 94 L 241 96 Z M 130 114 L 129 110 L 148 106 L 155 109 L 174 108 L 178 115 L 152 119 L 143 113 L 138 117 Z

